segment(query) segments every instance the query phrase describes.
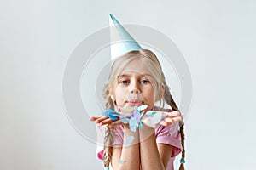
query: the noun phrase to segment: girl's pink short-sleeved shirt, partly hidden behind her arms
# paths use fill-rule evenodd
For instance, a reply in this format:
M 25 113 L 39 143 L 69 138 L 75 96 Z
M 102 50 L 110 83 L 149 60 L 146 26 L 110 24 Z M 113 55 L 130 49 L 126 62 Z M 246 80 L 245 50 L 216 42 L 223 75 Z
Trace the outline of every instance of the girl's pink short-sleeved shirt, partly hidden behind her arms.
M 115 131 L 113 135 L 113 145 L 123 145 L 123 126 L 119 126 L 120 130 Z M 166 167 L 166 170 L 173 170 L 173 161 L 175 156 L 177 156 L 182 151 L 181 145 L 181 137 L 178 132 L 178 122 L 172 123 L 172 125 L 168 127 L 164 127 L 160 125 L 155 128 L 155 138 L 157 144 L 170 144 L 172 145 L 172 155 L 170 157 L 170 161 Z M 102 160 L 103 159 L 103 150 L 98 149 L 96 153 L 97 157 Z

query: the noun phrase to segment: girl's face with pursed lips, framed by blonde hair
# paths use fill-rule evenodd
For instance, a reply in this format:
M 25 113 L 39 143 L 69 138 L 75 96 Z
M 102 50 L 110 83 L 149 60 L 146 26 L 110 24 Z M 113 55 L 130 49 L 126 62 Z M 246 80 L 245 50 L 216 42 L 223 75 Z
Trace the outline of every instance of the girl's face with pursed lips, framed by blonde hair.
M 132 60 L 119 75 L 117 85 L 113 89 L 116 105 L 120 108 L 148 105 L 147 110 L 153 110 L 155 85 L 156 82 L 143 60 Z

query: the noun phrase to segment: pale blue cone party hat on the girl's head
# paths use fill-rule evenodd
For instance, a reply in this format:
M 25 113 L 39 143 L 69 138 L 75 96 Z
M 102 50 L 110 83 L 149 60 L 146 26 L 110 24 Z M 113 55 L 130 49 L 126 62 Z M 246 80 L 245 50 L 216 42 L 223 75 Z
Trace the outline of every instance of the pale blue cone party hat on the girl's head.
M 139 50 L 142 47 L 133 37 L 120 25 L 112 14 L 109 14 L 110 41 L 111 41 L 111 59 L 115 59 L 122 54 L 132 50 Z

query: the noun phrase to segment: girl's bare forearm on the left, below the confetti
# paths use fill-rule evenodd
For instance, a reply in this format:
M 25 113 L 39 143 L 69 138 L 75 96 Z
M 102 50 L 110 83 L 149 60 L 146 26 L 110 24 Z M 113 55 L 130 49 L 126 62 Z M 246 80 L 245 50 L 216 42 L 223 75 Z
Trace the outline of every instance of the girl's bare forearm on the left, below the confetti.
M 125 146 L 127 140 L 134 137 L 131 144 Z M 140 169 L 140 151 L 139 151 L 139 134 L 131 132 L 129 127 L 124 128 L 123 147 L 113 147 L 112 167 L 117 170 L 139 170 Z

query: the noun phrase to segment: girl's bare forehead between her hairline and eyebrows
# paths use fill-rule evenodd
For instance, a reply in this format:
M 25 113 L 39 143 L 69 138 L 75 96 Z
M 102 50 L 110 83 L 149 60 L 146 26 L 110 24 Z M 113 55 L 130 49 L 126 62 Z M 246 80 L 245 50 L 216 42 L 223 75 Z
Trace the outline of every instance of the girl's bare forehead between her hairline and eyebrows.
M 150 75 L 150 71 L 148 70 L 148 66 L 145 65 L 143 59 L 134 59 L 125 65 L 123 71 L 121 71 L 120 75 L 123 75 L 127 72 L 136 72 L 141 75 Z

